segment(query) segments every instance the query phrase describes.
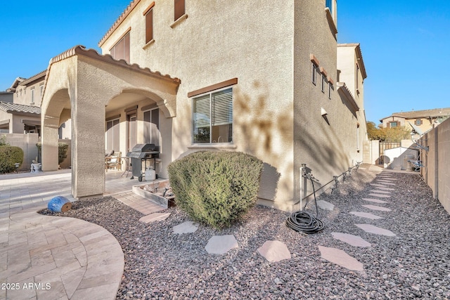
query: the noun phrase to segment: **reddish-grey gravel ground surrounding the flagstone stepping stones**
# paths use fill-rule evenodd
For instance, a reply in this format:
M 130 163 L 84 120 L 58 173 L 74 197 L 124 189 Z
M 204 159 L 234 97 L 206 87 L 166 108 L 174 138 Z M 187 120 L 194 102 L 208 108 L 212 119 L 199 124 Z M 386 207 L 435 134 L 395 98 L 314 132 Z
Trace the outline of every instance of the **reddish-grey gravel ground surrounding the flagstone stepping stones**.
M 190 221 L 176 207 L 165 221 L 141 223 L 143 216 L 113 197 L 72 203 L 65 214 L 96 223 L 122 245 L 125 268 L 117 299 L 450 299 L 450 216 L 415 173 L 391 173 L 396 185 L 386 204 L 371 203 L 375 173 L 360 168 L 318 200 L 334 204 L 319 209 L 325 228 L 313 235 L 285 225 L 290 214 L 257 206 L 234 226 L 216 230 L 200 225 L 178 235 L 173 227 Z M 381 198 L 380 198 L 381 200 Z M 375 211 L 373 204 L 392 211 Z M 316 215 L 314 203 L 307 210 Z M 351 211 L 375 214 L 366 219 Z M 396 236 L 366 233 L 355 224 L 391 230 Z M 353 247 L 331 233 L 359 235 L 371 247 Z M 208 254 L 214 235 L 234 235 L 239 247 Z M 257 249 L 267 240 L 284 242 L 292 259 L 269 263 Z M 321 258 L 318 246 L 342 249 L 364 264 L 352 271 Z

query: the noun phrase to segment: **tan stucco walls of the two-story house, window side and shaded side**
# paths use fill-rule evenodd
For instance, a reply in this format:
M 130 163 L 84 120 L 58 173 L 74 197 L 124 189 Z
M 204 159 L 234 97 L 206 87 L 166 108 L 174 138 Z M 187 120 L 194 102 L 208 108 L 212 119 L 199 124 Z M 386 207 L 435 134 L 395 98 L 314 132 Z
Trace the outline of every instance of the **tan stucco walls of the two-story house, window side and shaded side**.
M 285 210 L 299 200 L 301 164 L 326 183 L 362 161 L 364 111 L 351 112 L 336 85 L 328 99 L 319 76 L 317 85 L 311 84 L 310 53 L 335 84 L 337 80 L 336 38 L 324 3 L 188 1 L 188 18 L 172 28 L 173 1 L 155 1 L 155 41 L 145 45 L 143 11 L 152 2 L 140 1 L 101 47 L 109 53 L 131 27 L 131 63 L 181 79 L 172 120 L 172 160 L 203 149 L 255 155 L 265 162 L 259 197 Z M 233 144 L 192 145 L 192 99 L 187 93 L 235 77 Z

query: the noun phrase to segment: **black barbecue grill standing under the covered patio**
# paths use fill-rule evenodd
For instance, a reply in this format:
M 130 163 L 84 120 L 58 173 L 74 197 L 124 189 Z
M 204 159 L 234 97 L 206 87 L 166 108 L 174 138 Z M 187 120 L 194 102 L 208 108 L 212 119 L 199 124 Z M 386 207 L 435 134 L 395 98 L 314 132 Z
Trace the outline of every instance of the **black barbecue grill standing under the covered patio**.
M 153 159 L 153 169 L 156 171 L 156 159 L 160 156 L 160 146 L 155 144 L 137 144 L 131 149 L 131 152 L 127 153 L 127 157 L 131 158 L 131 179 L 134 176 L 138 177 L 139 181 L 142 181 L 142 162 L 144 162 L 144 172 L 147 169 L 147 160 Z M 156 174 L 158 178 L 158 174 Z

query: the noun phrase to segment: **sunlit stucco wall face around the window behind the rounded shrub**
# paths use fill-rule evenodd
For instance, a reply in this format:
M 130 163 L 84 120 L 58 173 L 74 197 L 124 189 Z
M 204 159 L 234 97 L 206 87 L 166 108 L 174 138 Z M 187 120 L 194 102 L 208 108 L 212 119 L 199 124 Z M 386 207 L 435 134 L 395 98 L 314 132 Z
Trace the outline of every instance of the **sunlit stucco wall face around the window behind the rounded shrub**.
M 130 43 L 139 45 L 131 48 L 131 63 L 181 79 L 172 127 L 172 159 L 212 149 L 191 147 L 192 99 L 187 93 L 237 77 L 233 145 L 219 148 L 248 152 L 266 162 L 261 197 L 272 199 L 278 181 L 279 202 L 292 199 L 293 2 L 273 6 L 270 1 L 262 1 L 255 6 L 229 1 L 217 9 L 210 1 L 190 1 L 186 4 L 188 18 L 172 29 L 173 2 L 156 1 L 155 42 L 143 49 L 142 12 L 150 2 L 141 1 L 102 48 L 108 53 L 131 27 Z M 226 14 L 222 13 L 224 5 Z M 257 18 L 248 22 L 248 15 Z

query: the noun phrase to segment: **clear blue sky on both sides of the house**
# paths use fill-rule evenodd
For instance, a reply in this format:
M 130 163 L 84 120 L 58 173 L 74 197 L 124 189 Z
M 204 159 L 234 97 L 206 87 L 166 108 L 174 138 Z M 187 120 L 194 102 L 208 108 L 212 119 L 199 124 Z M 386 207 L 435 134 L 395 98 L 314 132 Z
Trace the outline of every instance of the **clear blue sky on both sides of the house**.
M 246 0 L 233 0 L 246 1 Z M 319 1 L 319 0 L 318 0 Z M 77 44 L 95 48 L 129 0 L 0 4 L 0 91 L 32 77 Z M 338 0 L 338 42 L 361 43 L 368 121 L 450 107 L 450 6 L 433 1 Z M 186 6 L 187 8 L 187 6 Z

